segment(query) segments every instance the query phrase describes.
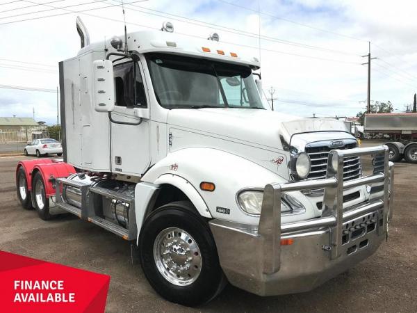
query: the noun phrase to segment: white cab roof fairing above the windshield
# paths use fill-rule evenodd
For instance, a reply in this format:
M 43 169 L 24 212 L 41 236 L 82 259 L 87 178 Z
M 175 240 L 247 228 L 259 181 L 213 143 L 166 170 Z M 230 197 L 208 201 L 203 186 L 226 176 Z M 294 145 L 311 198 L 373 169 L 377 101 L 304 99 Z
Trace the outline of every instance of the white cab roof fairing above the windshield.
M 120 36 L 124 39 L 124 35 Z M 189 38 L 187 35 L 177 33 L 168 33 L 166 31 L 137 31 L 128 33 L 127 46 L 129 51 L 138 51 L 140 54 L 149 52 L 161 52 L 170 54 L 181 54 L 193 56 L 197 58 L 209 58 L 215 61 L 236 63 L 239 65 L 250 65 L 253 70 L 259 70 L 261 63 L 259 63 L 256 56 L 247 53 L 246 49 L 236 47 L 227 43 L 200 39 Z M 108 52 L 117 52 L 110 44 L 111 38 L 106 39 L 106 42 L 93 42 L 81 49 L 77 56 L 88 53 L 88 51 L 102 51 L 104 47 Z M 202 47 L 210 49 L 210 52 L 205 52 Z M 224 55 L 218 54 L 219 51 L 224 51 Z M 231 53 L 237 54 L 237 57 L 231 56 Z

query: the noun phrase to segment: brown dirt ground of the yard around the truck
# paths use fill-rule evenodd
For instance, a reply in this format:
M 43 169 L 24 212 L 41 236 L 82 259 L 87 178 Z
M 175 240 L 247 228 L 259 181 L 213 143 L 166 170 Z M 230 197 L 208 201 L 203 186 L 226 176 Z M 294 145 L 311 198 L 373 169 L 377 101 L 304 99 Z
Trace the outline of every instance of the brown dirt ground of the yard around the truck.
M 158 296 L 131 264 L 128 242 L 75 216 L 45 222 L 22 209 L 19 159 L 0 158 L 0 250 L 111 275 L 108 312 L 417 312 L 417 165 L 395 164 L 389 241 L 372 257 L 304 294 L 262 298 L 229 285 L 196 310 Z

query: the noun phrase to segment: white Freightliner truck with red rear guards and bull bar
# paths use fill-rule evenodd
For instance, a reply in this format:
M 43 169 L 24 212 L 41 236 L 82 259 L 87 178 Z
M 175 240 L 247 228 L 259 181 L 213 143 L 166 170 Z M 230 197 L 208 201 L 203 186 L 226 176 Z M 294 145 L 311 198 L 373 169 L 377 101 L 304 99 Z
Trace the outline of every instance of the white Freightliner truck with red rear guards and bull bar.
M 386 239 L 387 147 L 359 147 L 334 119 L 271 111 L 256 57 L 170 23 L 92 44 L 77 29 L 82 49 L 59 63 L 64 158 L 19 162 L 24 208 L 131 241 L 158 294 L 190 306 L 227 283 L 309 291 Z

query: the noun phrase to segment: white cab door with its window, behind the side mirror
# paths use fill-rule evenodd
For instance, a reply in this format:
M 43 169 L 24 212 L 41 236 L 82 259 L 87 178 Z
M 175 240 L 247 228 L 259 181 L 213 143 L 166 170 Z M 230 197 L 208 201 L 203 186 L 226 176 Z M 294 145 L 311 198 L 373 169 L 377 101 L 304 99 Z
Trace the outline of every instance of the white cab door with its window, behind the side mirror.
M 115 110 L 111 113 L 112 172 L 142 176 L 150 164 L 149 107 L 140 62 L 114 65 Z

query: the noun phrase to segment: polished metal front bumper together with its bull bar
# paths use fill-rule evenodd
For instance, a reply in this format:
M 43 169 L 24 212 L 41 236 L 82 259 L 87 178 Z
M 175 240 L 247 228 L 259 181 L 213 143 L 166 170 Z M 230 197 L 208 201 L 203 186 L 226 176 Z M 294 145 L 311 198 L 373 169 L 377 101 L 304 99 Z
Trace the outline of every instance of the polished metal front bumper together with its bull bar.
M 343 182 L 336 158 L 372 154 L 373 175 Z M 334 162 L 333 162 L 334 163 Z M 387 147 L 332 150 L 327 178 L 265 186 L 259 227 L 211 220 L 229 282 L 260 296 L 309 291 L 373 254 L 392 216 L 393 163 Z M 368 202 L 343 211 L 343 190 L 370 184 Z M 325 188 L 322 217 L 281 224 L 281 192 Z

